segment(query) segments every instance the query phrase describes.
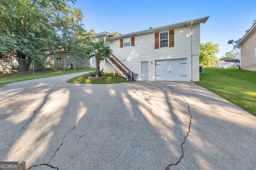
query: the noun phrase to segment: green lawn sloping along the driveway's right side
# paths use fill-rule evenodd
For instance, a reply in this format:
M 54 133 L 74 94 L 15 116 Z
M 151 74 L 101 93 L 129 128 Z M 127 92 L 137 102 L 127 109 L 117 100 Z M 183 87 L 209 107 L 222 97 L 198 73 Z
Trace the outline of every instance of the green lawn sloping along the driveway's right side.
M 203 68 L 196 84 L 256 116 L 256 72 L 237 68 Z

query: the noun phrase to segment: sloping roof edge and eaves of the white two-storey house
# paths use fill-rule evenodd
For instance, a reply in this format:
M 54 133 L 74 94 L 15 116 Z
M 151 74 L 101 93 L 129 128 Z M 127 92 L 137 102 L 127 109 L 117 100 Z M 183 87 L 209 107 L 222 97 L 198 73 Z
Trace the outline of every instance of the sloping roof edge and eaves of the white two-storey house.
M 194 20 L 184 21 L 184 22 L 180 22 L 180 23 L 174 23 L 174 24 L 171 24 L 171 25 L 165 25 L 165 26 L 162 26 L 162 27 L 145 29 L 145 30 L 142 30 L 142 31 L 136 31 L 136 32 L 127 33 L 127 34 L 123 34 L 123 35 L 108 36 L 108 38 L 109 39 L 121 39 L 121 38 L 126 38 L 126 37 L 133 37 L 133 36 L 136 36 L 136 35 L 143 35 L 143 34 L 147 34 L 147 33 L 160 32 L 160 31 L 165 31 L 167 29 L 174 29 L 174 28 L 177 28 L 177 27 L 184 27 L 186 25 L 189 26 L 192 22 L 193 22 L 193 24 L 194 23 L 206 23 L 208 18 L 209 18 L 209 16 L 194 19 Z M 103 33 L 106 33 L 106 32 L 103 32 Z M 91 35 L 91 37 L 94 37 L 94 38 L 104 37 L 104 35 L 102 33 L 98 33 L 98 34 Z

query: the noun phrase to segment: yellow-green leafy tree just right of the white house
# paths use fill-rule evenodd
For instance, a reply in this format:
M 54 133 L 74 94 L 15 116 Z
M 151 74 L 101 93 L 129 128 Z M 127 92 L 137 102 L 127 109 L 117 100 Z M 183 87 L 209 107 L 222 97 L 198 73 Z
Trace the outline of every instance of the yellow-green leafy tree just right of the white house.
M 200 44 L 199 63 L 204 67 L 214 66 L 218 58 L 215 56 L 219 52 L 219 45 L 212 42 Z

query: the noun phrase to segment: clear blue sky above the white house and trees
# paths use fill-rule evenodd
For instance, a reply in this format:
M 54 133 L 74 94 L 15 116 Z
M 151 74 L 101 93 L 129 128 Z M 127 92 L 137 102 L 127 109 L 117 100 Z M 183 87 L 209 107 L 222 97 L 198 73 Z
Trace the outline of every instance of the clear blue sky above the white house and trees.
M 256 19 L 255 0 L 77 0 L 84 14 L 85 29 L 100 32 L 141 31 L 210 16 L 201 24 L 200 41 L 220 45 L 222 57 L 232 50 L 227 42 L 242 38 Z

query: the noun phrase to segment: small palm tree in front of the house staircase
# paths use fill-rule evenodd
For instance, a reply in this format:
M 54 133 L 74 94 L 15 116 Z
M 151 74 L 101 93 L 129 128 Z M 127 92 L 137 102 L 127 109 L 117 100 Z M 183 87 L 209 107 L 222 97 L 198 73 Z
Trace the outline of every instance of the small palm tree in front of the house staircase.
M 91 57 L 96 58 L 96 74 L 100 74 L 100 60 L 106 59 L 109 57 L 112 50 L 109 47 L 105 46 L 104 41 L 99 42 L 89 42 L 86 47 L 83 47 L 84 52 L 87 53 L 86 59 Z

